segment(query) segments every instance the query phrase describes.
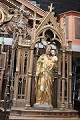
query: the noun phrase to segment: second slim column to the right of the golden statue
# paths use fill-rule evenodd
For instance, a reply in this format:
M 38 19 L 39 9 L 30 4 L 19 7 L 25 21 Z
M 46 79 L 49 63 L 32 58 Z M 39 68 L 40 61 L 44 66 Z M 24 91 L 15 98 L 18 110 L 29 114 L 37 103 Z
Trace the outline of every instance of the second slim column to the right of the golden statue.
M 63 60 L 62 60 L 62 99 L 61 108 L 65 107 L 65 50 L 63 49 Z

